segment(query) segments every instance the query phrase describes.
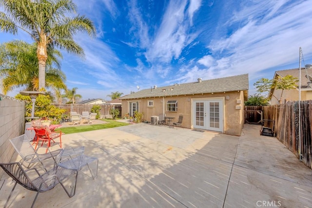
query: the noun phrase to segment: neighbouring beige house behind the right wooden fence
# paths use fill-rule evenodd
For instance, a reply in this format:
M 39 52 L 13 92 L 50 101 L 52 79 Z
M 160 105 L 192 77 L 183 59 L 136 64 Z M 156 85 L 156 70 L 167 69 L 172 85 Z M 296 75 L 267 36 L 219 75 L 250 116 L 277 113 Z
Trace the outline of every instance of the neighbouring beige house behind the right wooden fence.
M 299 79 L 299 68 L 276 71 L 274 78 L 277 78 L 278 76 L 285 77 L 287 75 Z M 310 79 L 308 77 L 310 77 Z M 284 90 L 282 97 L 282 90 L 271 89 L 268 97 L 271 101 L 271 105 L 285 103 L 285 101 L 290 100 L 299 100 L 299 81 L 297 82 L 297 85 L 298 87 L 296 89 Z M 301 68 L 301 100 L 312 100 L 312 65 L 310 66 L 310 64 Z

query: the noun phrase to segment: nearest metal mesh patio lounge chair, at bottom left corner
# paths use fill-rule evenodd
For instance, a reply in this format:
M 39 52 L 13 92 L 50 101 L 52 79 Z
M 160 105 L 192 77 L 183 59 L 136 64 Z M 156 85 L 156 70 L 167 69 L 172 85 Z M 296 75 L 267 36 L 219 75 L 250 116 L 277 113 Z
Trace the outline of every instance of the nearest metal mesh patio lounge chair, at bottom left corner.
M 33 204 L 31 205 L 32 208 L 34 207 L 34 204 L 37 200 L 39 192 L 45 192 L 45 191 L 51 190 L 59 183 L 63 187 L 63 189 L 66 191 L 69 197 L 73 197 L 76 193 L 76 183 L 77 183 L 77 176 L 78 176 L 77 170 L 64 169 L 62 167 L 56 166 L 52 170 L 49 170 L 45 172 L 44 174 L 40 175 L 39 171 L 35 168 L 25 171 L 19 162 L 0 163 L 0 166 L 11 178 L 13 178 L 13 180 L 15 180 L 14 187 L 11 190 L 11 193 L 8 199 L 6 200 L 4 208 L 6 208 L 17 184 L 20 184 L 25 189 L 37 191 L 36 197 L 33 201 Z M 37 174 L 39 175 L 39 177 L 35 178 L 34 180 L 31 180 L 26 173 L 30 170 L 35 170 Z M 72 174 L 76 174 L 75 180 L 72 182 L 70 192 L 68 192 L 68 190 L 63 185 L 63 181 L 65 181 L 65 179 L 67 179 Z M 27 207 L 27 205 L 25 205 L 25 207 Z

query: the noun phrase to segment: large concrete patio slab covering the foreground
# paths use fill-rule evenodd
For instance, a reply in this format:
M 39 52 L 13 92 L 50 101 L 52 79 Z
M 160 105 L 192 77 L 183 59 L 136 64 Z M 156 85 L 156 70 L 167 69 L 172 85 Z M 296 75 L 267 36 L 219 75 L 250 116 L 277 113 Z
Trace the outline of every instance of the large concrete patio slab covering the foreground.
M 238 137 L 135 124 L 65 134 L 63 147 L 85 146 L 86 155 L 98 157 L 98 178 L 79 172 L 74 197 L 58 185 L 40 193 L 35 207 L 311 208 L 312 170 L 259 129 L 245 124 Z M 5 174 L 0 207 L 12 187 Z M 30 207 L 35 195 L 17 185 L 8 207 Z

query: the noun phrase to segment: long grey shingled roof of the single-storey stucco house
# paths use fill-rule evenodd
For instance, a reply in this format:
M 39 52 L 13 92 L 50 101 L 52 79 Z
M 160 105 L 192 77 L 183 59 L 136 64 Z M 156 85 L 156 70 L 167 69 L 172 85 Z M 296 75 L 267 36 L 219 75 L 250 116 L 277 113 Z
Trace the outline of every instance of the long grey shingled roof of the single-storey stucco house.
M 133 99 L 155 96 L 172 95 L 193 95 L 202 93 L 220 93 L 239 90 L 248 90 L 248 74 L 229 76 L 217 79 L 202 80 L 201 82 L 190 82 L 184 84 L 175 84 L 153 89 L 145 89 L 131 95 L 125 95 L 120 99 Z

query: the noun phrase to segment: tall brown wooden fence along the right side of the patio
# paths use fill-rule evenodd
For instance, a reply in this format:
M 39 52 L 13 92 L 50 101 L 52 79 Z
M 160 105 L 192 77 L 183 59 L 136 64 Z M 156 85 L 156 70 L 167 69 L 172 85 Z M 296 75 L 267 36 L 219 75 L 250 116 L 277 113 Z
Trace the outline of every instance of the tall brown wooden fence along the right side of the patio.
M 273 131 L 276 138 L 282 142 L 298 158 L 300 157 L 300 143 L 302 162 L 312 168 L 312 100 L 300 102 L 301 139 L 299 138 L 299 102 L 288 101 L 284 104 L 262 106 L 263 119 L 274 120 Z M 250 110 L 246 106 L 245 110 Z M 273 126 L 268 126 L 273 128 Z

